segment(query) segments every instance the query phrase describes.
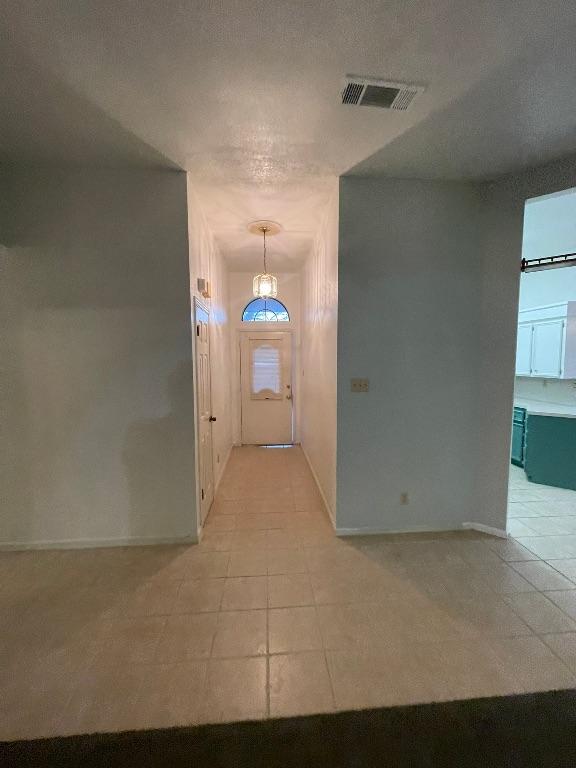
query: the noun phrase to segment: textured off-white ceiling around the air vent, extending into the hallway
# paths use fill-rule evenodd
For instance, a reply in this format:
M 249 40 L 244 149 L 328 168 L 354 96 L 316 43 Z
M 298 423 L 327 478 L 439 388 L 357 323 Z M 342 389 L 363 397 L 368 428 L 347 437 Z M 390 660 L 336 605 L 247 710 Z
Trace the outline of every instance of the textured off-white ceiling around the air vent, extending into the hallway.
M 575 22 L 567 0 L 4 0 L 0 159 L 185 168 L 229 260 L 251 268 L 240 232 L 271 217 L 296 264 L 327 177 L 576 148 Z M 347 73 L 428 88 L 406 114 L 343 107 Z

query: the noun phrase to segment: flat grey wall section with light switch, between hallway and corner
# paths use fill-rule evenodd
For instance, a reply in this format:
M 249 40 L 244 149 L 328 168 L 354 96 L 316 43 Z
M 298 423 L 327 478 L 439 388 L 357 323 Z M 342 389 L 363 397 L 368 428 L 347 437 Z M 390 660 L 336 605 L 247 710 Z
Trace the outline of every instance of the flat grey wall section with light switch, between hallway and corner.
M 338 530 L 475 521 L 481 225 L 472 185 L 341 179 Z

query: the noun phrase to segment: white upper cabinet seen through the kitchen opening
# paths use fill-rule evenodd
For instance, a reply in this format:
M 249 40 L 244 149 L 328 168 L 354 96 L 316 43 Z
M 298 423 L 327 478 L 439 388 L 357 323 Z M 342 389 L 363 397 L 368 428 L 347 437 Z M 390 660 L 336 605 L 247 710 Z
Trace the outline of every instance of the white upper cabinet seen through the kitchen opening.
M 576 301 L 519 312 L 516 375 L 576 378 Z

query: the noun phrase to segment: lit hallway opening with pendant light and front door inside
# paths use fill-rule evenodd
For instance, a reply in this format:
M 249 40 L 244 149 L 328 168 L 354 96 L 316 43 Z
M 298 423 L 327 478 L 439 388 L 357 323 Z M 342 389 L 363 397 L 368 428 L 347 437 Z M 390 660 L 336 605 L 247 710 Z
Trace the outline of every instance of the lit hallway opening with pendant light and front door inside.
M 236 522 L 266 530 L 327 522 L 333 534 L 338 180 L 299 191 L 297 202 L 279 191 L 275 202 L 239 203 L 238 189 L 221 191 L 189 189 L 197 536 L 232 551 Z M 238 223 L 272 202 L 290 225 L 264 222 L 266 238 L 260 220 L 223 224 L 225 210 L 236 210 Z M 285 520 L 254 518 L 258 505 L 277 512 L 281 497 Z

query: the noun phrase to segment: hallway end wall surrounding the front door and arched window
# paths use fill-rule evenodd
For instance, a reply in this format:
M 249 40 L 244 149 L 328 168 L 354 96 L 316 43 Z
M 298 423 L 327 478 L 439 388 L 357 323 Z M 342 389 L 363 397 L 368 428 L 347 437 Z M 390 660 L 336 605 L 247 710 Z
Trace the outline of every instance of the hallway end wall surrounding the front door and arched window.
M 300 381 L 297 375 L 300 370 L 300 273 L 275 272 L 278 278 L 278 300 L 288 309 L 290 323 L 258 323 L 259 330 L 284 330 L 292 332 L 292 371 L 293 371 L 293 403 L 294 403 L 294 440 L 300 441 Z M 242 312 L 252 301 L 253 272 L 229 272 L 228 290 L 230 297 L 230 344 L 231 365 L 228 379 L 232 388 L 233 410 L 233 439 L 235 445 L 241 443 L 240 430 L 240 336 L 242 329 L 246 330 L 247 323 L 242 323 Z

